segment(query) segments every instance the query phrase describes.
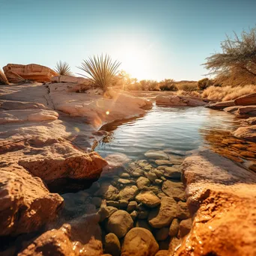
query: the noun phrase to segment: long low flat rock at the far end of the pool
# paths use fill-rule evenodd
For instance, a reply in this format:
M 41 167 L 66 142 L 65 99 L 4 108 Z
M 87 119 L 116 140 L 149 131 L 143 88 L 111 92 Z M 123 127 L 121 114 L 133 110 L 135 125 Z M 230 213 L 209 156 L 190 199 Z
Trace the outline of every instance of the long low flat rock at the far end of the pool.
M 157 95 L 156 105 L 164 106 L 204 106 L 203 100 L 195 97 L 181 97 L 177 95 Z

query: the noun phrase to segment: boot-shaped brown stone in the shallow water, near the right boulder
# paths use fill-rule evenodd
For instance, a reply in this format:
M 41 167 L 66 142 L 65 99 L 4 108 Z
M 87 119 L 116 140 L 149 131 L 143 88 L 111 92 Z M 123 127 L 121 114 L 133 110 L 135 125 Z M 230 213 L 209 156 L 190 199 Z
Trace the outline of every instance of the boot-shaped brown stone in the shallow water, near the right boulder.
M 153 228 L 164 228 L 171 224 L 177 215 L 177 203 L 173 198 L 161 198 L 158 209 L 152 210 L 148 216 L 148 222 Z

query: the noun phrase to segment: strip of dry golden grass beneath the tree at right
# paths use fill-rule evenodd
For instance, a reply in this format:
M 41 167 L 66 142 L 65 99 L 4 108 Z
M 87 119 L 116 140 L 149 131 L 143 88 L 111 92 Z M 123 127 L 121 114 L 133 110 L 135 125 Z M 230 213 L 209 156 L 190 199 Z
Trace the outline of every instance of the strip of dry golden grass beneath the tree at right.
M 256 85 L 245 85 L 245 86 L 225 86 L 216 87 L 210 86 L 204 90 L 201 94 L 202 97 L 209 100 L 235 100 L 246 94 L 253 94 L 256 92 Z

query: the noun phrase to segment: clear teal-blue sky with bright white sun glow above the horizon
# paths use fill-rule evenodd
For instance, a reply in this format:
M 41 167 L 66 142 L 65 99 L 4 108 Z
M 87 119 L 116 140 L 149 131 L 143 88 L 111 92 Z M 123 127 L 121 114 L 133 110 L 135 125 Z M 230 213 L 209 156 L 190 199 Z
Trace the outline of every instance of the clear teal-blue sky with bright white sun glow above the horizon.
M 78 73 L 103 52 L 138 79 L 198 80 L 225 34 L 255 24 L 255 0 L 0 0 L 0 66 L 62 60 Z

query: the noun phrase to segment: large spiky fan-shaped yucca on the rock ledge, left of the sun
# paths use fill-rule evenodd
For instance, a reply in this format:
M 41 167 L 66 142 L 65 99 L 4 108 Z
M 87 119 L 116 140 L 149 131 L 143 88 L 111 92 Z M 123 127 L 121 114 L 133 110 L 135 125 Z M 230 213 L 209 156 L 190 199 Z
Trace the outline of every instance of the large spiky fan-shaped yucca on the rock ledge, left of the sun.
M 109 87 L 112 83 L 112 79 L 118 73 L 118 67 L 121 62 L 112 61 L 109 55 L 97 55 L 93 58 L 88 58 L 84 60 L 81 64 L 81 67 L 78 67 L 80 70 L 85 71 L 88 75 L 83 75 L 94 83 L 94 85 L 103 88 L 106 91 L 106 88 Z

